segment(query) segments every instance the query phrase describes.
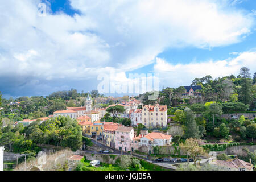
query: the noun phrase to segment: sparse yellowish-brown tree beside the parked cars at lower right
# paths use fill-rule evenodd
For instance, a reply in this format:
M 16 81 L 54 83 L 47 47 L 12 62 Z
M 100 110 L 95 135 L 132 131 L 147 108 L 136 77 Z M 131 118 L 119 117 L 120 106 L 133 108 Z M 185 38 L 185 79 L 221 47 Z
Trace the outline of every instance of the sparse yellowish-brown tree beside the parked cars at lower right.
M 199 140 L 195 138 L 186 139 L 185 143 L 180 144 L 180 148 L 185 152 L 185 154 L 191 156 L 194 160 L 195 166 L 196 161 L 199 160 L 199 155 L 207 155 L 204 148 L 199 146 Z

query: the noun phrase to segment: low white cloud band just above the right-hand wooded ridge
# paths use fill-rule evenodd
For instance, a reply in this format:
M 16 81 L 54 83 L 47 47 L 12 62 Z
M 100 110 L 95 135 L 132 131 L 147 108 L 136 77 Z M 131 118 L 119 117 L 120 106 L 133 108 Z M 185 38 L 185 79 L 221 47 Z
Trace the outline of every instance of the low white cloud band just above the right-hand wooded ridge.
M 154 71 L 159 73 L 160 84 L 172 87 L 190 85 L 194 78 L 211 75 L 213 78 L 238 75 L 243 66 L 256 70 L 256 52 L 242 52 L 235 58 L 208 60 L 200 63 L 170 64 L 156 58 Z

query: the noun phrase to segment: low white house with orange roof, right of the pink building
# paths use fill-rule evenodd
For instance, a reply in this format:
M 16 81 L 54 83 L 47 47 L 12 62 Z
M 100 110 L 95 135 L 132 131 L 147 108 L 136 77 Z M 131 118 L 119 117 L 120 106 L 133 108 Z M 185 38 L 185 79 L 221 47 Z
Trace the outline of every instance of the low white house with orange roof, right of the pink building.
M 166 135 L 160 132 L 152 132 L 140 139 L 139 146 L 167 146 L 172 140 L 171 135 Z

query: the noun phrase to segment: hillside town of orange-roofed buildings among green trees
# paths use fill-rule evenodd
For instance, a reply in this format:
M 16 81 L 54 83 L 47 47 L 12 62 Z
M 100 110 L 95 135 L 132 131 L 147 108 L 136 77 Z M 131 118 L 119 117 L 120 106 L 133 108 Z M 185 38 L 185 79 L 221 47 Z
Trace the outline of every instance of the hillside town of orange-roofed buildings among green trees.
M 242 78 L 232 79 L 224 77 L 220 82 L 240 79 L 242 85 Z M 255 78 L 252 83 L 255 89 Z M 148 100 L 150 93 L 114 98 L 101 96 L 97 90 L 85 94 L 71 90 L 46 98 L 22 97 L 11 102 L 2 99 L 1 114 L 5 117 L 1 119 L 1 166 L 8 168 L 7 157 L 3 154 L 13 158 L 12 168 L 16 170 L 19 165 L 36 159 L 42 148 L 60 146 L 75 152 L 68 156 L 72 160 L 66 159 L 75 161 L 74 165 L 80 160 L 88 161 L 82 158 L 88 154 L 117 155 L 120 159 L 129 155 L 161 169 L 187 169 L 184 165 L 190 162 L 197 168 L 197 165 L 201 168 L 208 165 L 212 170 L 253 171 L 256 162 L 255 94 L 247 102 L 243 100 L 243 91 L 236 91 L 231 85 L 231 91 L 223 97 L 217 90 L 207 93 L 211 84 L 210 79 L 200 82 L 200 86 L 165 88 L 157 100 Z M 222 86 L 225 90 L 226 85 Z M 63 108 L 61 110 L 47 105 L 35 106 L 42 108 L 41 111 L 14 117 L 21 111 L 26 113 L 33 100 L 36 100 L 35 105 L 44 100 L 55 104 L 59 102 L 55 98 L 67 99 L 67 96 L 63 106 L 56 107 Z M 47 111 L 50 109 L 51 113 Z M 14 132 L 20 136 L 15 137 Z M 15 162 L 18 155 L 20 162 L 19 157 Z M 27 158 L 22 159 L 22 156 Z

